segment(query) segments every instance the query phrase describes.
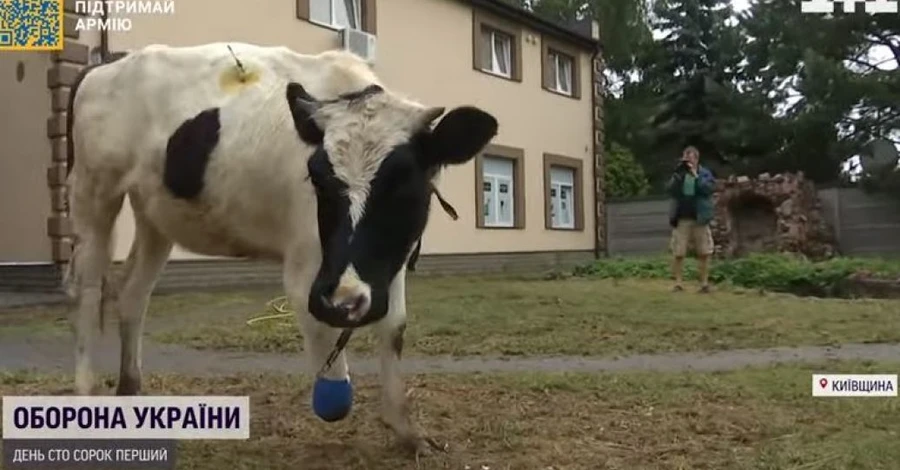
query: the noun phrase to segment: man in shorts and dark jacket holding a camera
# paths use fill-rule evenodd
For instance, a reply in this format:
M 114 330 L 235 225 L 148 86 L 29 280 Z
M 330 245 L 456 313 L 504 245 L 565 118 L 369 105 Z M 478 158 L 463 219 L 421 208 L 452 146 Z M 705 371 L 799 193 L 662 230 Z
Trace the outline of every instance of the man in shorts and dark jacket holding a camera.
M 666 184 L 666 192 L 672 197 L 669 208 L 669 225 L 672 226 L 671 250 L 672 274 L 675 276 L 673 291 L 680 292 L 682 271 L 688 244 L 693 241 L 700 274 L 700 292 L 709 292 L 709 258 L 715 250 L 709 222 L 715 212 L 712 194 L 716 181 L 709 169 L 700 165 L 700 152 L 688 146 L 681 154 L 675 172 Z

